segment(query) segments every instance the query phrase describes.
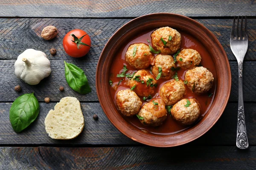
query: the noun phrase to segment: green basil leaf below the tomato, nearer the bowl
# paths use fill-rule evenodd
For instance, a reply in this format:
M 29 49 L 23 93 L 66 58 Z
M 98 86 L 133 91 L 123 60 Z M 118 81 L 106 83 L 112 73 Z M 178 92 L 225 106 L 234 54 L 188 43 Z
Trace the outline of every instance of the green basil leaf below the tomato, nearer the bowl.
M 74 64 L 67 63 L 66 61 L 64 63 L 65 77 L 70 88 L 80 94 L 90 93 L 91 88 L 88 84 L 87 77 L 84 75 L 84 71 Z

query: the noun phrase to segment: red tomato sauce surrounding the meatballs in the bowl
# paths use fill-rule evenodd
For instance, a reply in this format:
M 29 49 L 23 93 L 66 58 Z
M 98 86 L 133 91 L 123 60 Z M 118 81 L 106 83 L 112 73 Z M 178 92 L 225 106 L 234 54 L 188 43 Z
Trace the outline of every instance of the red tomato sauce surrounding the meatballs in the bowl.
M 139 42 L 144 42 L 144 43 L 152 46 L 150 35 L 153 31 L 154 30 L 144 32 L 144 33 L 140 34 L 139 36 L 134 37 L 133 39 L 131 39 L 130 42 L 128 42 L 127 45 L 125 45 L 123 48 L 120 49 L 118 54 L 116 54 L 116 58 L 113 60 L 113 63 L 111 66 L 111 71 L 110 71 L 111 74 L 109 75 L 109 80 L 111 80 L 113 82 L 113 85 L 110 85 L 110 87 L 109 87 L 110 91 L 111 91 L 111 97 L 112 97 L 113 102 L 116 103 L 116 93 L 119 90 L 130 89 L 130 87 L 128 85 L 128 78 L 116 77 L 117 74 L 120 74 L 123 71 L 122 70 L 123 65 L 127 66 L 128 71 L 126 73 L 134 73 L 137 71 L 135 68 L 131 67 L 125 61 L 125 53 L 127 51 L 127 48 L 129 47 L 129 45 L 131 45 L 133 43 L 139 43 Z M 179 31 L 179 30 L 177 30 L 177 31 Z M 198 51 L 202 58 L 200 64 L 203 67 L 207 68 L 210 72 L 212 72 L 213 77 L 215 78 L 216 77 L 215 76 L 216 75 L 215 65 L 214 65 L 208 51 L 204 47 L 204 45 L 201 42 L 199 42 L 195 37 L 192 37 L 191 35 L 187 34 L 186 32 L 184 32 L 184 31 L 179 31 L 179 32 L 181 34 L 180 49 L 191 48 L 191 49 Z M 150 43 L 147 41 L 147 39 L 150 41 Z M 155 54 L 155 56 L 156 55 L 157 54 Z M 146 70 L 150 71 L 151 67 L 152 66 L 149 66 Z M 186 73 L 186 70 L 180 68 L 180 70 L 177 71 L 179 79 L 184 80 L 185 73 Z M 122 82 L 119 82 L 121 79 L 123 79 Z M 158 85 L 157 85 L 157 89 L 155 90 L 155 94 L 153 94 L 151 96 L 153 98 L 160 97 L 158 92 L 159 92 L 160 88 L 162 87 L 162 85 L 168 81 L 169 80 L 158 79 L 157 80 Z M 118 83 L 119 83 L 119 85 L 118 85 Z M 214 95 L 215 95 L 215 88 L 216 88 L 215 80 L 214 80 L 212 88 L 208 91 L 208 93 L 200 95 L 200 96 L 192 93 L 186 85 L 185 85 L 185 87 L 186 87 L 186 93 L 184 94 L 183 99 L 194 98 L 194 99 L 197 99 L 201 105 L 201 117 L 198 119 L 198 120 L 200 120 L 207 113 L 208 109 L 212 105 L 212 101 L 213 101 Z M 212 94 L 212 96 L 209 97 L 209 94 Z M 140 97 L 140 99 L 143 102 L 143 105 L 145 103 L 147 103 L 147 101 L 143 100 L 143 97 Z M 121 112 L 120 112 L 120 114 L 122 115 Z M 143 130 L 146 133 L 154 133 L 154 134 L 159 134 L 159 135 L 174 134 L 174 133 L 178 133 L 180 131 L 183 131 L 183 130 L 189 128 L 189 126 L 181 125 L 180 123 L 175 121 L 172 118 L 172 116 L 170 116 L 168 113 L 167 113 L 167 119 L 163 122 L 163 125 L 160 125 L 158 127 L 145 126 L 140 122 L 140 120 L 136 116 L 134 116 L 134 117 L 123 116 L 123 118 L 127 122 L 131 123 L 133 126 L 139 128 L 140 130 Z

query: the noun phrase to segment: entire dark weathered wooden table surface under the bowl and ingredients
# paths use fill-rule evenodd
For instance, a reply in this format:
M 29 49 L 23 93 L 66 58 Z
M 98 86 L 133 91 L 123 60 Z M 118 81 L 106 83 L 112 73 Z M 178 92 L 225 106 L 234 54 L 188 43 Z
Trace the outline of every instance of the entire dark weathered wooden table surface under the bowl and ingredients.
M 232 73 L 229 103 L 218 122 L 205 135 L 172 148 L 148 147 L 120 133 L 105 116 L 95 88 L 96 65 L 104 45 L 122 25 L 144 14 L 171 12 L 192 17 L 212 31 L 223 45 Z M 249 47 L 244 61 L 244 104 L 250 147 L 236 148 L 238 68 L 230 50 L 234 15 L 247 15 Z M 45 26 L 58 28 L 50 41 L 40 37 Z M 69 57 L 64 35 L 75 28 L 89 33 L 90 52 Z M 256 2 L 254 0 L 1 0 L 0 1 L 0 169 L 255 169 L 256 168 Z M 14 74 L 17 56 L 27 48 L 44 51 L 52 73 L 38 85 L 28 85 Z M 56 48 L 52 57 L 50 48 Z M 84 70 L 92 92 L 81 95 L 67 85 L 64 60 Z M 14 91 L 20 85 L 21 93 Z M 64 92 L 58 90 L 62 85 Z M 15 133 L 9 121 L 12 102 L 35 92 L 40 113 L 35 122 Z M 49 138 L 44 119 L 64 96 L 81 102 L 85 127 L 76 139 Z M 44 98 L 51 102 L 45 103 Z M 93 114 L 99 120 L 93 120 Z

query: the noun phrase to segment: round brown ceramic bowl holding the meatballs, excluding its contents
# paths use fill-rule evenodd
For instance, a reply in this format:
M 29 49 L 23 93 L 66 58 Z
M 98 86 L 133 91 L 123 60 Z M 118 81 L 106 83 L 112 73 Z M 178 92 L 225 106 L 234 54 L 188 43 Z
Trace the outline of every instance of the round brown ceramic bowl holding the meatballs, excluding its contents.
M 113 102 L 109 90 L 109 71 L 116 53 L 131 37 L 145 30 L 169 26 L 183 30 L 204 44 L 212 57 L 216 69 L 216 91 L 214 101 L 197 124 L 180 133 L 155 135 L 144 133 L 122 118 Z M 231 72 L 227 55 L 217 38 L 205 26 L 178 14 L 157 13 L 135 18 L 122 26 L 108 40 L 99 58 L 96 72 L 96 89 L 103 111 L 113 125 L 134 141 L 155 147 L 173 147 L 191 142 L 206 133 L 220 118 L 227 105 L 231 89 Z

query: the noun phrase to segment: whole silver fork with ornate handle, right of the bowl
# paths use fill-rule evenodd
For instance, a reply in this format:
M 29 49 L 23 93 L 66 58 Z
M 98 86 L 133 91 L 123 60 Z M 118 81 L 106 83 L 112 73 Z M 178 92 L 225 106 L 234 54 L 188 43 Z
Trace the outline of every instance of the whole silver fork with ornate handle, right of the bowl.
M 247 20 L 245 16 L 244 37 L 243 33 L 243 16 L 241 17 L 240 36 L 239 32 L 239 16 L 237 19 L 236 35 L 235 35 L 236 16 L 234 17 L 232 31 L 230 35 L 230 48 L 238 62 L 238 117 L 236 130 L 236 146 L 240 149 L 247 149 L 249 146 L 247 131 L 244 117 L 244 99 L 243 99 L 243 61 L 248 48 L 247 36 Z

